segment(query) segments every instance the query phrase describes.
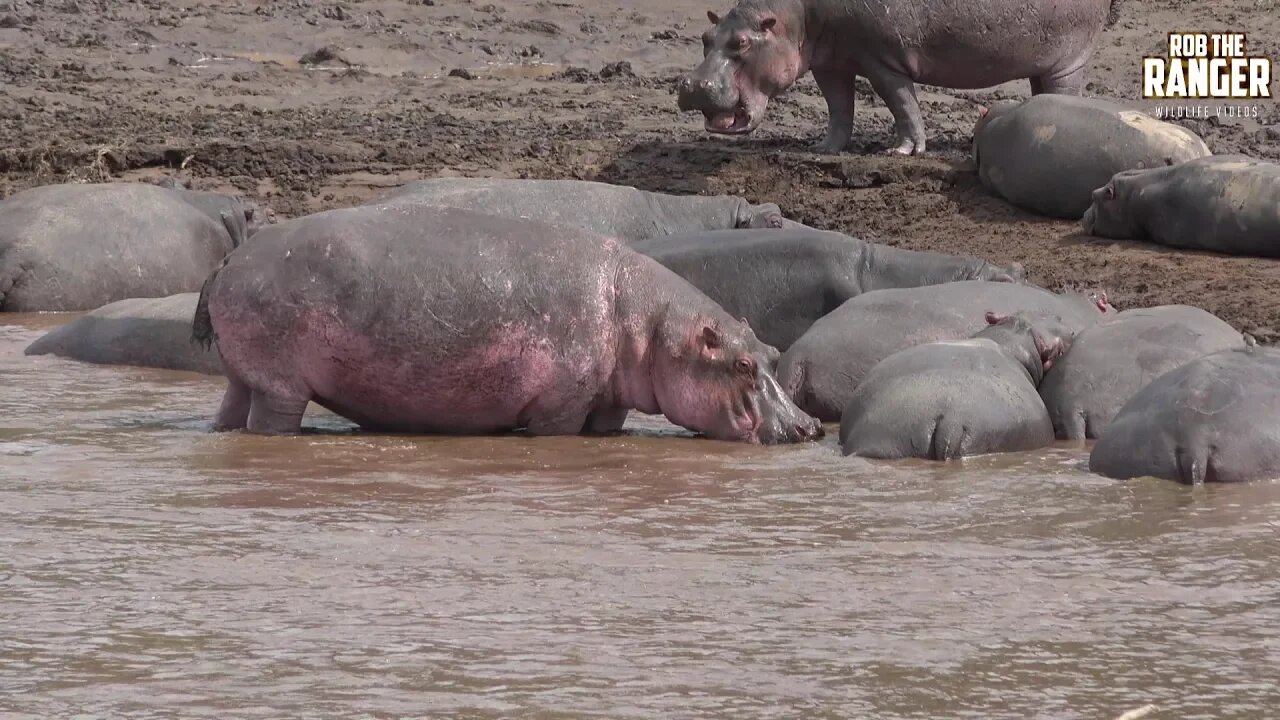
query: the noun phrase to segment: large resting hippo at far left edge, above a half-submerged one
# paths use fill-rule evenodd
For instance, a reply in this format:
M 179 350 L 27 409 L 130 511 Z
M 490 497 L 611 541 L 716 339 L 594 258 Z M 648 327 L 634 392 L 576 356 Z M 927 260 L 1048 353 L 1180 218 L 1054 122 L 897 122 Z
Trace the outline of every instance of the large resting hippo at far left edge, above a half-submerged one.
M 237 225 L 188 200 L 140 182 L 14 193 L 0 202 L 0 310 L 92 310 L 200 290 Z

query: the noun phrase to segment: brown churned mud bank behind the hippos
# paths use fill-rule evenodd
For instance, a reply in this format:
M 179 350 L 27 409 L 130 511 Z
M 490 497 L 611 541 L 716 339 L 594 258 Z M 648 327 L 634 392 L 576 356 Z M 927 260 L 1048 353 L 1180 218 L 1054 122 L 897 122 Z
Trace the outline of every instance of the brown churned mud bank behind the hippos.
M 719 5 L 728 6 L 727 3 Z M 716 9 L 724 9 L 719 5 Z M 1248 32 L 1280 58 L 1272 0 L 1124 5 L 1087 92 L 1137 100 L 1170 29 Z M 47 182 L 191 178 L 279 217 L 439 174 L 570 177 L 776 201 L 788 217 L 914 250 L 1020 261 L 1048 287 L 1102 283 L 1116 306 L 1187 302 L 1280 337 L 1280 264 L 1082 237 L 988 196 L 968 161 L 977 104 L 1027 83 L 920 87 L 922 158 L 876 155 L 890 115 L 863 85 L 852 152 L 815 155 L 810 78 L 749 138 L 676 108 L 708 8 L 655 0 L 0 0 L 0 193 Z M 1280 83 L 1274 86 L 1280 91 Z M 1215 152 L 1280 160 L 1280 108 L 1184 120 Z M 872 154 L 861 154 L 872 152 Z

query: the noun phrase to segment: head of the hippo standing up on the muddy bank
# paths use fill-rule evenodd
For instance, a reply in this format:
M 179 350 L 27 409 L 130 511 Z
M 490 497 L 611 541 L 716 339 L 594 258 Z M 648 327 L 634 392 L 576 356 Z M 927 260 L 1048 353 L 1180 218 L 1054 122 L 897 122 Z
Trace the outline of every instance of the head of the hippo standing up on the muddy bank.
M 707 129 L 744 135 L 759 127 L 769 99 L 804 74 L 799 18 L 788 19 L 760 3 L 744 1 L 703 33 L 703 61 L 677 83 L 680 109 L 698 110 Z

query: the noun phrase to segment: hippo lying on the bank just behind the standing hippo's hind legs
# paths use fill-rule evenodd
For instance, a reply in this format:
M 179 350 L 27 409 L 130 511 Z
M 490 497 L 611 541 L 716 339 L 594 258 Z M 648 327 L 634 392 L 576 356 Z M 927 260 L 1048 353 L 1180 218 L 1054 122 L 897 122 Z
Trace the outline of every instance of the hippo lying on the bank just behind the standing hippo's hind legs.
M 1134 168 L 1210 155 L 1194 132 L 1101 97 L 1037 95 L 984 110 L 973 133 L 982 184 L 1012 205 L 1079 220 L 1093 191 Z

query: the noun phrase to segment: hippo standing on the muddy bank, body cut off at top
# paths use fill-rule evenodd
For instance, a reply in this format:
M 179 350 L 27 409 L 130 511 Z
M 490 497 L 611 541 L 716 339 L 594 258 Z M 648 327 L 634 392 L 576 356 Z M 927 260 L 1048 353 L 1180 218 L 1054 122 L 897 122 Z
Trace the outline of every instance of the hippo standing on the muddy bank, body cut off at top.
M 924 152 L 915 83 L 991 87 L 1030 78 L 1032 92 L 1079 95 L 1084 68 L 1120 0 L 740 0 L 707 13 L 703 63 L 677 82 L 681 110 L 707 129 L 749 133 L 769 100 L 813 70 L 838 152 L 854 132 L 854 78 L 893 114 L 890 152 Z

